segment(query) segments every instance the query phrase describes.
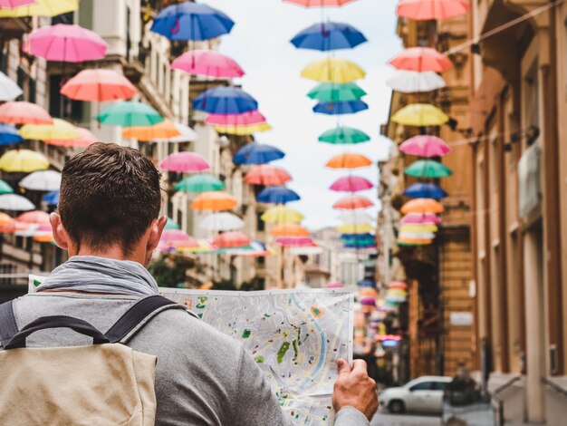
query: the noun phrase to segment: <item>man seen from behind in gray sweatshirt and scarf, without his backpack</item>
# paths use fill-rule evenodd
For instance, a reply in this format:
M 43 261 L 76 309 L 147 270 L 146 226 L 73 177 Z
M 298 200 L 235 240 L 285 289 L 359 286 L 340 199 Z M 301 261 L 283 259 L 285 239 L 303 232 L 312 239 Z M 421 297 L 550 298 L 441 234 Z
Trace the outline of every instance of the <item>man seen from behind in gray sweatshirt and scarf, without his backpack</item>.
M 33 295 L 14 302 L 21 329 L 45 315 L 83 319 L 103 333 L 140 297 L 158 293 L 144 267 L 167 218 L 159 218 L 159 171 L 138 150 L 95 143 L 62 171 L 53 237 L 70 259 Z M 88 344 L 70 330 L 44 330 L 28 346 Z M 48 344 L 49 343 L 49 344 Z M 157 355 L 157 424 L 281 425 L 269 384 L 241 344 L 187 312 L 168 310 L 135 334 L 129 346 Z M 378 407 L 363 362 L 339 362 L 335 425 L 368 425 Z

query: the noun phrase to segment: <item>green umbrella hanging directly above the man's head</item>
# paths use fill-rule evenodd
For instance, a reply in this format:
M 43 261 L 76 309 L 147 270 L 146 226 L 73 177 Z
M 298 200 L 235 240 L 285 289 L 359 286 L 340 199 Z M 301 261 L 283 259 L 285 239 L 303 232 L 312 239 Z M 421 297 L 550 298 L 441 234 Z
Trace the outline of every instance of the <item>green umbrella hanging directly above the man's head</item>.
M 111 126 L 153 126 L 163 117 L 146 103 L 124 101 L 118 102 L 101 111 L 98 120 Z

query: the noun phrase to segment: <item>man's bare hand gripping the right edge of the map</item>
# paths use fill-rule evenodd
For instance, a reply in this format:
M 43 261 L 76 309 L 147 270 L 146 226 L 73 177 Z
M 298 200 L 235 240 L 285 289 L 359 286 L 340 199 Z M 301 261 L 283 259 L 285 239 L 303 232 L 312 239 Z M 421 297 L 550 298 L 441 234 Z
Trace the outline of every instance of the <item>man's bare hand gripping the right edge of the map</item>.
M 351 406 L 361 411 L 370 421 L 378 410 L 376 382 L 366 372 L 366 362 L 354 360 L 352 369 L 345 360 L 337 361 L 339 378 L 332 392 L 332 406 L 336 412 Z

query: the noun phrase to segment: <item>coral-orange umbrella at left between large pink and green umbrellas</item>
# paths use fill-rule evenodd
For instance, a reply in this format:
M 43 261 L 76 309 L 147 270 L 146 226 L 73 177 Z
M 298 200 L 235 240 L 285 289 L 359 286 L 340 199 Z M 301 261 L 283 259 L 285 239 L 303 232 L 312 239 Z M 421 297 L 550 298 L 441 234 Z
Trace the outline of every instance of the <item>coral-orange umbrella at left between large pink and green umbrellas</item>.
M 138 89 L 116 71 L 96 69 L 82 70 L 60 92 L 75 101 L 103 102 L 130 99 Z

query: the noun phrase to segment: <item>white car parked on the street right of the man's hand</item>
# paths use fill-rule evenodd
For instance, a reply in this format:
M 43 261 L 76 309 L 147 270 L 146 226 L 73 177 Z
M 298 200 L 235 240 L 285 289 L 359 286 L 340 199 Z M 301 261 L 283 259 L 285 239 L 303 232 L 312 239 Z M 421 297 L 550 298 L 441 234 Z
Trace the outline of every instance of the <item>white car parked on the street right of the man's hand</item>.
M 444 376 L 423 376 L 403 386 L 389 388 L 380 393 L 380 406 L 390 412 L 443 411 L 443 392 L 453 379 Z

